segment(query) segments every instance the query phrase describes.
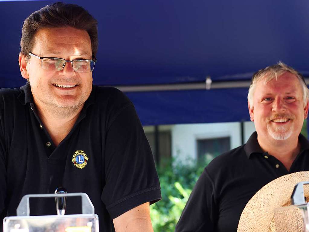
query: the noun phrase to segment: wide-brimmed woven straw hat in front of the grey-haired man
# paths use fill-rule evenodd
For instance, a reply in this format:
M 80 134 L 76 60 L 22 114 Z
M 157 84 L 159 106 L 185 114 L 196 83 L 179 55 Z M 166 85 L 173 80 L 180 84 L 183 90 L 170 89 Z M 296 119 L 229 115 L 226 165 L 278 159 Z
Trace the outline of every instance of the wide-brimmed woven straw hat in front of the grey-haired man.
M 302 232 L 301 210 L 282 207 L 291 204 L 294 187 L 302 181 L 309 181 L 309 171 L 281 176 L 262 187 L 243 209 L 237 232 Z M 303 187 L 309 197 L 309 185 Z

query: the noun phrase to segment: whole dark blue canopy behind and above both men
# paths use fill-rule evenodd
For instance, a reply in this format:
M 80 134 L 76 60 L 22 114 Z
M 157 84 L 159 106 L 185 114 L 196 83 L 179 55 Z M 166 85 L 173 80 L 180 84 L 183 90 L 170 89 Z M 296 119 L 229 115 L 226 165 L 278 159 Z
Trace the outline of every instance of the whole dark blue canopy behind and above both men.
M 25 83 L 18 67 L 23 20 L 55 1 L 0 1 L 0 88 Z M 94 84 L 153 85 L 251 79 L 283 61 L 308 75 L 309 2 L 64 1 L 99 28 Z M 249 120 L 248 88 L 128 92 L 144 125 Z

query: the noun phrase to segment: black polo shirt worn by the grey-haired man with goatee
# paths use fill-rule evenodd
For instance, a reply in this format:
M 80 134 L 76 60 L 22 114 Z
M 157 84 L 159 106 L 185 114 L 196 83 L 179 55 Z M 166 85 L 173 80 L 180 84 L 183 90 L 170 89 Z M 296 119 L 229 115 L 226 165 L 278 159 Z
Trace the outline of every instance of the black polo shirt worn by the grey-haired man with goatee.
M 243 208 L 265 184 L 277 177 L 309 170 L 309 142 L 299 135 L 301 151 L 290 171 L 264 153 L 254 132 L 247 144 L 216 157 L 198 179 L 176 232 L 237 231 Z

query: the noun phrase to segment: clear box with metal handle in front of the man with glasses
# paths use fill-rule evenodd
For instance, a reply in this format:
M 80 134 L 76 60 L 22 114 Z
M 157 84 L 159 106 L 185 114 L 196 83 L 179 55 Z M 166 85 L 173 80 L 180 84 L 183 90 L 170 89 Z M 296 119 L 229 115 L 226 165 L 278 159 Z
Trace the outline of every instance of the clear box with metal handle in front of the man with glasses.
M 64 215 L 66 197 L 80 196 L 82 214 Z M 54 197 L 57 215 L 29 216 L 29 198 Z M 31 194 L 23 196 L 16 217 L 3 219 L 4 232 L 99 232 L 98 216 L 86 193 Z

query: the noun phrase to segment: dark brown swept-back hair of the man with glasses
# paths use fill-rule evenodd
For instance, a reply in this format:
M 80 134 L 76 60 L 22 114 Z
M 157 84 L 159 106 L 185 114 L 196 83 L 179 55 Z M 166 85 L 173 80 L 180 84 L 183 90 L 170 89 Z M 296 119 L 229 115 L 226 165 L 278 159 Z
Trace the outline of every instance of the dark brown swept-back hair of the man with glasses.
M 33 12 L 23 23 L 20 53 L 29 60 L 29 52 L 35 43 L 35 34 L 42 28 L 73 27 L 88 32 L 92 58 L 98 49 L 97 21 L 83 7 L 56 2 Z

